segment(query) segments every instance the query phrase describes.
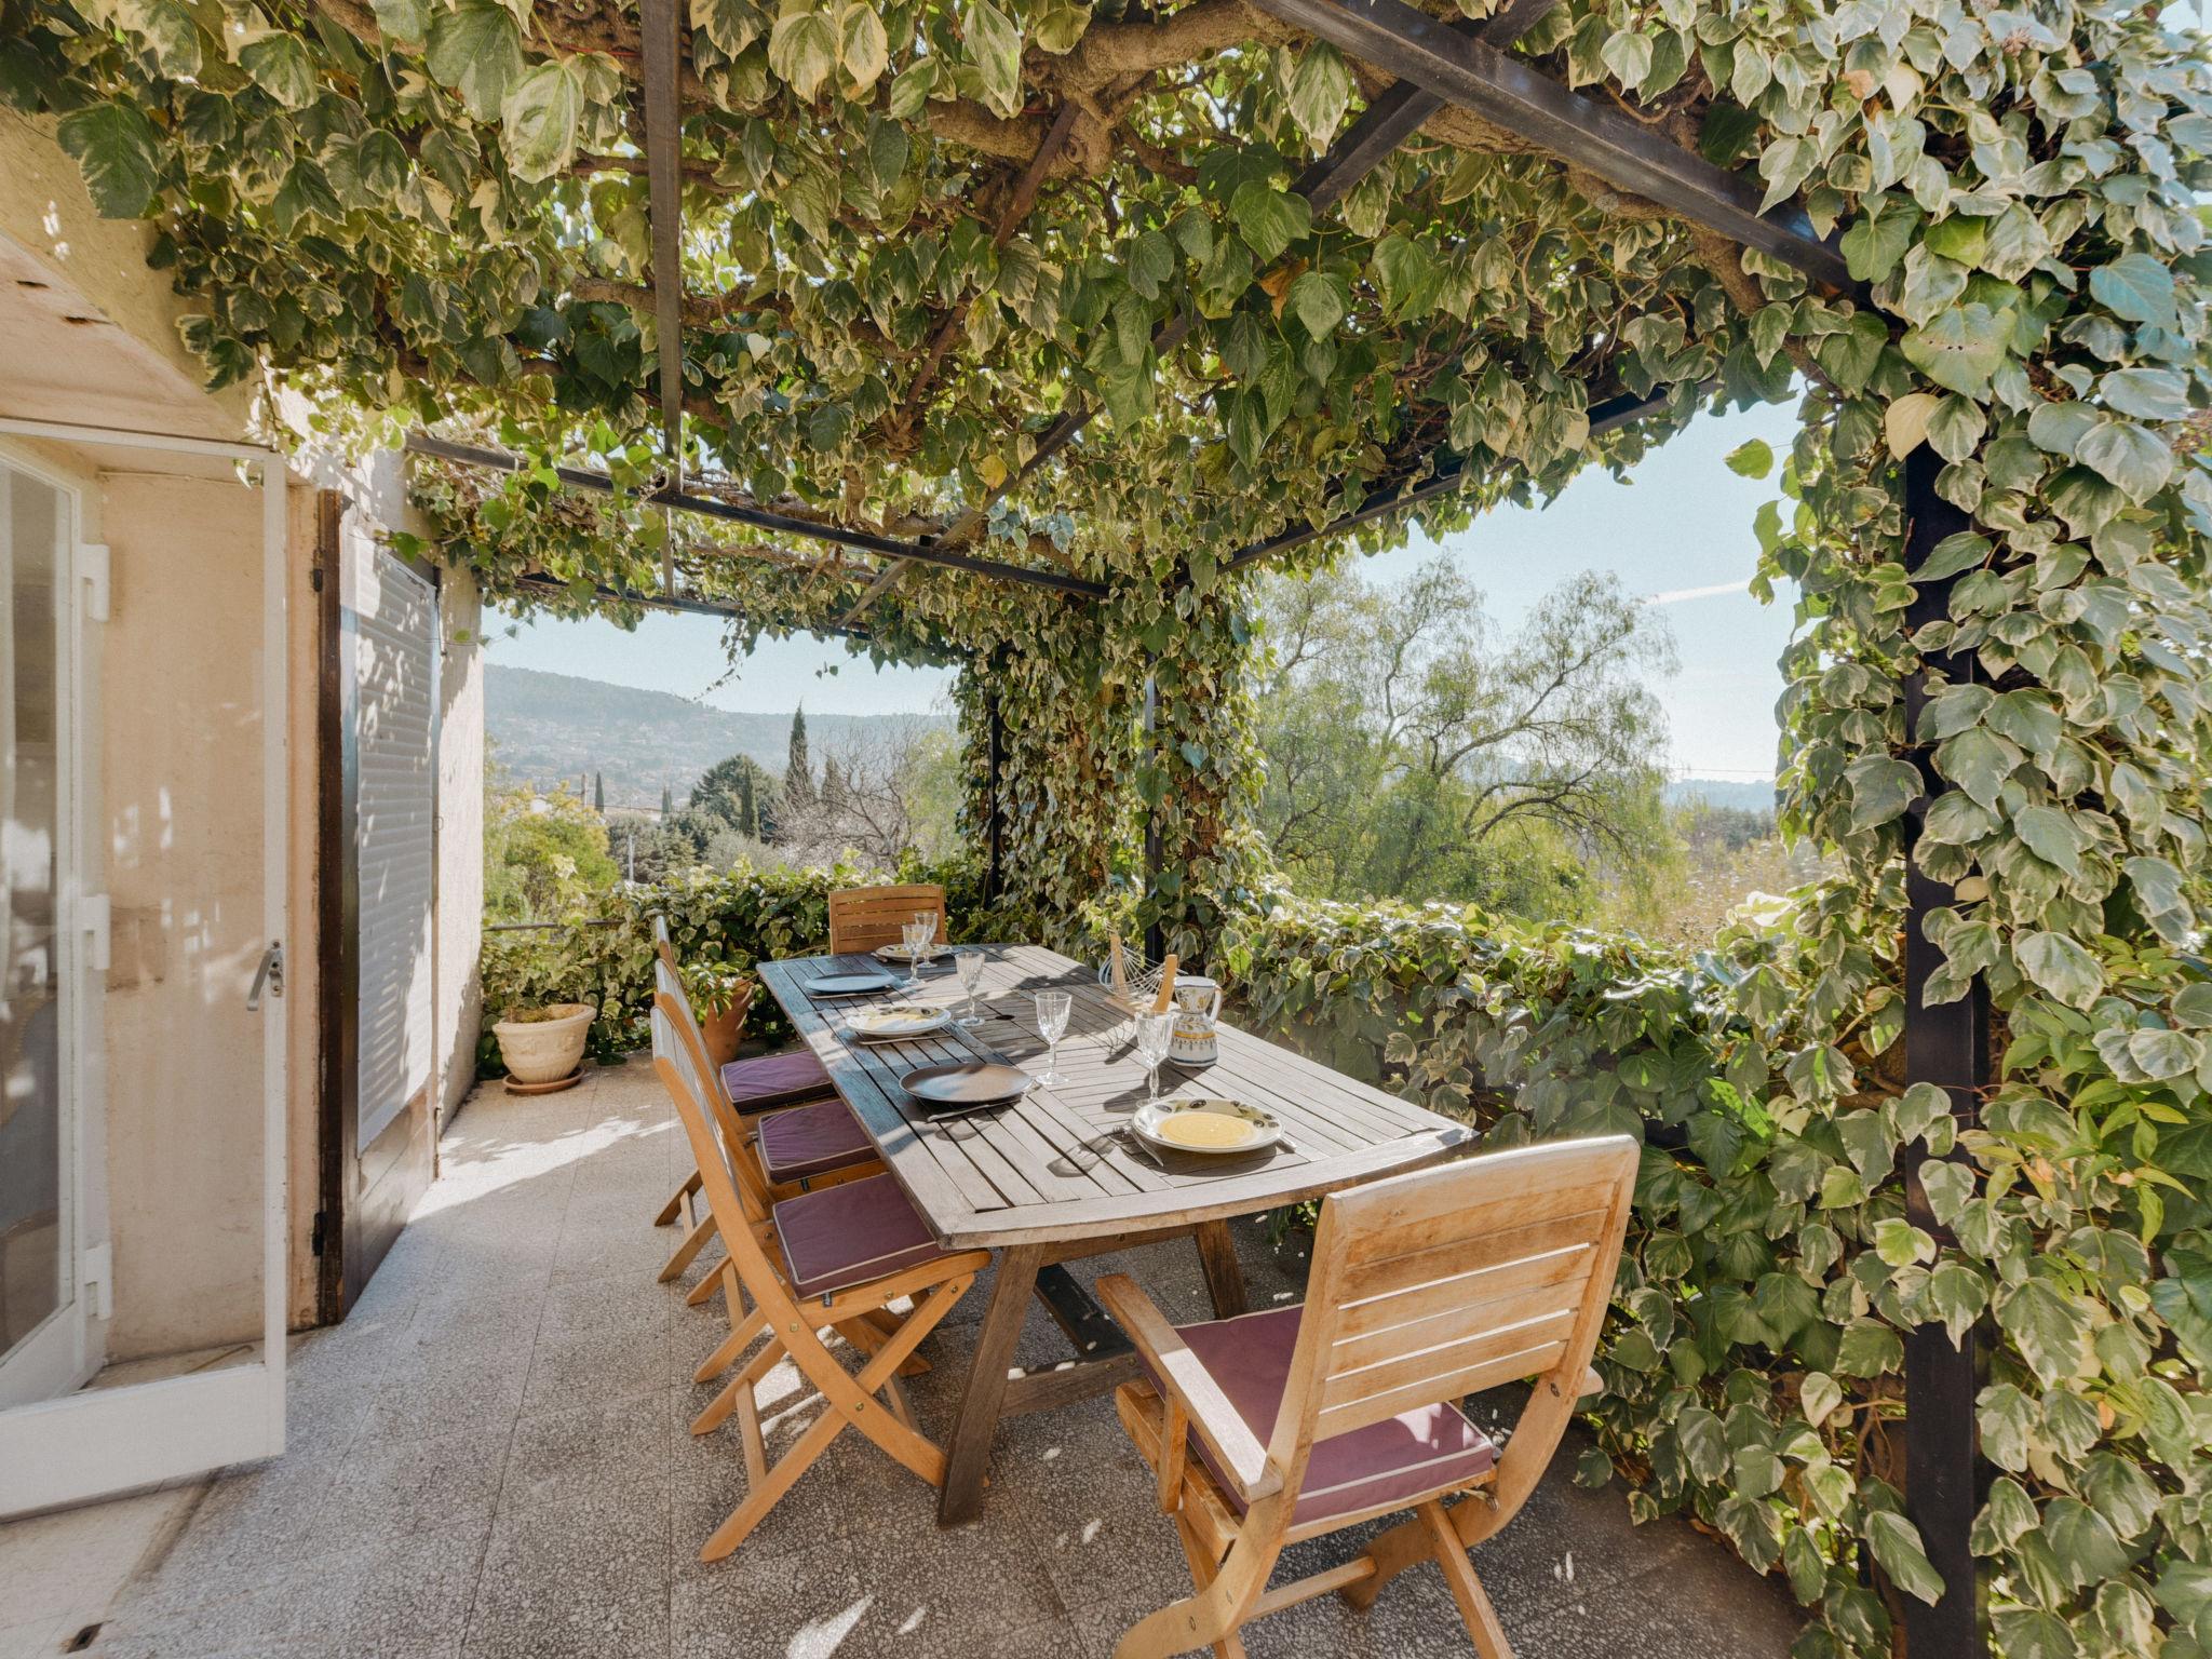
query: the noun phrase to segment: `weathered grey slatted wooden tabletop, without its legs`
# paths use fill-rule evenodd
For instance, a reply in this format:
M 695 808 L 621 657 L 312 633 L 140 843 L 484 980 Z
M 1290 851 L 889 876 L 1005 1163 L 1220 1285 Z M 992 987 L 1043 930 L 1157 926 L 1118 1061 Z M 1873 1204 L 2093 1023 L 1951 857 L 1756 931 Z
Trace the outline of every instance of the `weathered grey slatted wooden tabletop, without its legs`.
M 883 1006 L 958 1011 L 964 993 L 949 958 L 925 969 L 918 991 L 821 1000 L 807 995 L 810 980 L 885 964 L 867 956 L 761 964 L 761 980 L 947 1245 L 1128 1237 L 1252 1214 L 1429 1161 L 1469 1137 L 1464 1124 L 1223 1022 L 1221 1060 L 1192 1073 L 1161 1066 L 1161 1093 L 1263 1106 L 1283 1119 L 1285 1141 L 1239 1157 L 1152 1152 L 1128 1133 L 1146 1097 L 1130 1020 L 1097 978 L 1037 945 L 984 951 L 984 1024 L 916 1042 L 860 1042 L 849 1020 Z M 887 971 L 902 978 L 898 967 Z M 1037 991 L 1073 993 L 1057 1086 L 1031 1086 L 1013 1106 L 969 1117 L 933 1119 L 907 1097 L 900 1077 L 958 1060 L 1004 1060 L 1040 1075 Z

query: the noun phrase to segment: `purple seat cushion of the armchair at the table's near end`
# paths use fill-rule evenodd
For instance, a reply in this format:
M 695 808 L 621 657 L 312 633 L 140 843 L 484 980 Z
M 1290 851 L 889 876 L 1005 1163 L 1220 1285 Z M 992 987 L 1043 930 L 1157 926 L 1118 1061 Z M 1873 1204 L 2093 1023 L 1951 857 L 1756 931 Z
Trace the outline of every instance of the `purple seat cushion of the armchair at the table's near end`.
M 1303 1307 L 1270 1307 L 1263 1314 L 1177 1327 L 1177 1336 L 1199 1356 L 1261 1444 L 1274 1433 L 1303 1312 Z M 1190 1436 L 1190 1449 L 1214 1471 L 1221 1495 L 1243 1511 L 1237 1482 L 1197 1433 Z M 1495 1462 L 1498 1447 L 1455 1405 L 1400 1411 L 1396 1418 L 1314 1442 L 1292 1520 L 1305 1526 L 1371 1509 L 1400 1509 L 1429 1493 L 1460 1486 Z

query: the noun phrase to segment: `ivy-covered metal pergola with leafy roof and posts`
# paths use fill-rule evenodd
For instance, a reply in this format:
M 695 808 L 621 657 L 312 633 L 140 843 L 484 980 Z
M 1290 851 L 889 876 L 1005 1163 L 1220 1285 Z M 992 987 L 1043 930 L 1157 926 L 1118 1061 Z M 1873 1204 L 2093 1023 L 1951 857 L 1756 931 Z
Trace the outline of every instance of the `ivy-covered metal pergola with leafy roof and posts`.
M 208 301 L 217 378 L 414 427 L 440 557 L 739 648 L 969 661 L 993 896 L 1068 914 L 1137 863 L 1186 953 L 1265 869 L 1252 575 L 1803 389 L 1761 542 L 1807 595 L 1787 814 L 1849 872 L 1803 922 L 1807 1004 L 1902 1029 L 1896 1197 L 1805 1276 L 1902 1325 L 1907 1451 L 1902 1520 L 1807 1491 L 1801 1535 L 1871 1553 L 1913 1652 L 2126 1624 L 2051 1606 L 2106 1573 L 2022 1588 L 2042 1533 L 1991 1520 L 1978 1411 L 2013 1433 L 2004 1363 L 2126 1440 L 2166 1411 L 2146 1378 L 2194 1394 L 2212 1305 L 2159 1292 L 2148 1358 L 2106 1352 L 2088 1327 L 2152 1298 L 2097 1290 L 2075 1332 L 2020 1254 L 2130 1234 L 2150 1279 L 2161 1225 L 2205 1219 L 2157 1150 L 2203 1130 L 2208 1024 L 2174 953 L 2212 639 L 2197 42 L 1958 0 L 314 0 L 223 42 L 159 0 L 0 15 L 7 84 Z M 2028 1097 L 2095 1099 L 2088 1146 L 2137 1113 L 2128 1181 Z M 2166 1451 L 2115 1455 L 2179 1509 L 2121 1566 L 2157 1579 L 2141 1628 L 2212 1650 L 2203 1447 L 2143 1433 Z M 1701 1478 L 1772 1493 L 1725 1447 Z M 1854 1617 L 1829 1652 L 1876 1639 Z

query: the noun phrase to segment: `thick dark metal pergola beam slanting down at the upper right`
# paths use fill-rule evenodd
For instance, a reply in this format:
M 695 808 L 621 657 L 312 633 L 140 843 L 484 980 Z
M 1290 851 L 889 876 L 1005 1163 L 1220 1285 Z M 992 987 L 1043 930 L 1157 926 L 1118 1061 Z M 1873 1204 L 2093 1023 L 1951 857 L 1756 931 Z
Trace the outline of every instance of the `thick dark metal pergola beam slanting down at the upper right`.
M 1635 117 L 1573 93 L 1486 40 L 1405 0 L 1252 0 L 1338 51 L 1413 82 L 1491 126 L 1528 139 L 1615 190 L 1655 201 L 1694 226 L 1781 259 L 1818 283 L 1854 292 L 1834 239 L 1814 234 L 1803 208 L 1759 212 L 1759 184 L 1717 168 Z

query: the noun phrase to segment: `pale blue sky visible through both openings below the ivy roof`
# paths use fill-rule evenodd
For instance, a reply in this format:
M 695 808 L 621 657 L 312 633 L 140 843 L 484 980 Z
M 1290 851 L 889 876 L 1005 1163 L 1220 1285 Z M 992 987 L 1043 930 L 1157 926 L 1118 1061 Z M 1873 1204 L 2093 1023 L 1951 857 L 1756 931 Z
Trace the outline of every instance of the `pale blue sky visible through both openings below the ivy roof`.
M 1630 482 L 1584 473 L 1551 507 L 1489 513 L 1442 546 L 1506 628 L 1579 571 L 1613 571 L 1630 593 L 1655 595 L 1681 655 L 1681 672 L 1652 686 L 1672 728 L 1674 772 L 1772 776 L 1774 664 L 1790 639 L 1790 602 L 1761 606 L 1745 584 L 1759 560 L 1752 513 L 1776 491 L 1772 480 L 1728 471 L 1723 458 L 1745 438 L 1781 451 L 1792 431 L 1794 405 L 1701 416 Z M 1389 582 L 1433 551 L 1436 542 L 1416 538 L 1360 568 Z M 518 626 L 491 617 L 487 630 L 491 661 L 703 697 L 714 708 L 787 712 L 805 699 L 816 712 L 922 712 L 951 684 L 951 670 L 876 670 L 843 644 L 814 639 L 763 644 L 732 668 L 710 617 L 653 615 L 635 633 L 597 619 Z

